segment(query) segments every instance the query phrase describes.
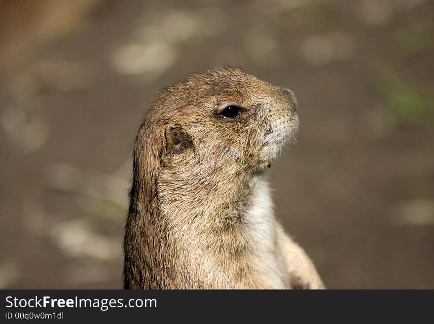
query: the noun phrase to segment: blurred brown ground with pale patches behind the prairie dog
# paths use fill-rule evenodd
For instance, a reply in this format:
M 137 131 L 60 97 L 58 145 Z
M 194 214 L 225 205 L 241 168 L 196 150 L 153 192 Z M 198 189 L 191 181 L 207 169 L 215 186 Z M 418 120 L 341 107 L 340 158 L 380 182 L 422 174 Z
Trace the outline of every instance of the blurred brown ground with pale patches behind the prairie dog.
M 159 90 L 241 66 L 298 97 L 270 169 L 328 288 L 434 288 L 434 1 L 2 0 L 0 288 L 121 288 Z

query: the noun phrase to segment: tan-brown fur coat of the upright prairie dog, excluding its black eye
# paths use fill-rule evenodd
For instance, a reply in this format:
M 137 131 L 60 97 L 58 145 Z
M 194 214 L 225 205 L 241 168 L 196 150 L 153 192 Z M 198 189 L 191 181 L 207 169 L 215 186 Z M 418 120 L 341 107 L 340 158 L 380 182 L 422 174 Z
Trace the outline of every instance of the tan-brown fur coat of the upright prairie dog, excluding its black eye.
M 228 104 L 245 110 L 222 118 Z M 125 288 L 323 288 L 264 179 L 297 129 L 295 107 L 288 89 L 235 68 L 161 94 L 134 148 Z

